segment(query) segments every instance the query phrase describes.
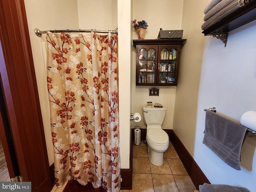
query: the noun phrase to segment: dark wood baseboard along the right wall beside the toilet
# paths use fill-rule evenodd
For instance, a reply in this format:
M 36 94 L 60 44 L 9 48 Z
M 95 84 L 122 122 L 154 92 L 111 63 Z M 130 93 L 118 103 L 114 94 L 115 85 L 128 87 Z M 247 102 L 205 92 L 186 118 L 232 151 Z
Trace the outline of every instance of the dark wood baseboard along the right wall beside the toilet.
M 169 132 L 170 141 L 172 142 L 172 145 L 174 146 L 176 152 L 178 153 L 180 160 L 184 164 L 184 167 L 186 168 L 196 189 L 199 190 L 199 185 L 202 185 L 204 183 L 210 184 L 209 180 L 206 178 L 198 164 L 196 164 L 195 160 L 192 158 L 192 156 L 185 148 L 185 146 L 182 144 L 182 142 L 175 134 L 175 132 L 173 130 L 170 130 Z

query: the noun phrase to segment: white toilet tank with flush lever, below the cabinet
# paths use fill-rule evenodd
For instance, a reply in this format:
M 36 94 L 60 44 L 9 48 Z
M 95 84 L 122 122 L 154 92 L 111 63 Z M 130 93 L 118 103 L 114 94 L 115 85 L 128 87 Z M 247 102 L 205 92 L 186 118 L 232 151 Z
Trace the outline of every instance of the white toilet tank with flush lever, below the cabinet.
M 143 107 L 144 123 L 147 125 L 162 125 L 166 112 L 165 107 Z

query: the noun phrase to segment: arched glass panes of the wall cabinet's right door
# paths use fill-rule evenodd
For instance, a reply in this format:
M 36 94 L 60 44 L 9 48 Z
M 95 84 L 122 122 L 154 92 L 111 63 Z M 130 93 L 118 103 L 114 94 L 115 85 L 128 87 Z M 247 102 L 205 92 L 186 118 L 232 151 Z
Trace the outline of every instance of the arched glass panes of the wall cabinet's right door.
M 160 48 L 160 62 L 158 66 L 158 84 L 172 84 L 175 82 L 175 72 L 177 63 L 176 48 Z

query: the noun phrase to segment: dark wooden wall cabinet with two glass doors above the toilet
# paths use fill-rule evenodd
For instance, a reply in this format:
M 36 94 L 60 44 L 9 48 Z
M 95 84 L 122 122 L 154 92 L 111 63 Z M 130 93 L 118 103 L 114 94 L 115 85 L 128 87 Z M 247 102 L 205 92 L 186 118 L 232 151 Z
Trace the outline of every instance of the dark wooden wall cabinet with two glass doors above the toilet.
M 186 39 L 133 40 L 136 85 L 177 86 L 180 50 Z

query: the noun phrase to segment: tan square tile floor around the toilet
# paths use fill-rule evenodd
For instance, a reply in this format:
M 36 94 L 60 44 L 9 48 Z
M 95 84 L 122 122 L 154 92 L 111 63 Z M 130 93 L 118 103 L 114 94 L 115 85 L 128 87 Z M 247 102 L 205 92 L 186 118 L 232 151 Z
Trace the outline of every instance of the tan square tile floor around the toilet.
M 120 192 L 194 192 L 196 190 L 171 142 L 164 153 L 164 164 L 154 166 L 148 159 L 147 145 L 133 146 L 132 190 Z M 62 192 L 54 188 L 51 192 Z

